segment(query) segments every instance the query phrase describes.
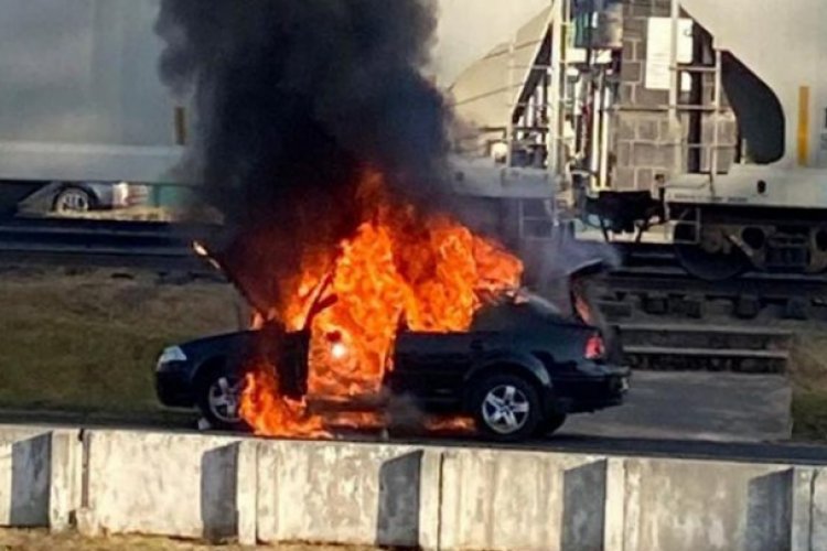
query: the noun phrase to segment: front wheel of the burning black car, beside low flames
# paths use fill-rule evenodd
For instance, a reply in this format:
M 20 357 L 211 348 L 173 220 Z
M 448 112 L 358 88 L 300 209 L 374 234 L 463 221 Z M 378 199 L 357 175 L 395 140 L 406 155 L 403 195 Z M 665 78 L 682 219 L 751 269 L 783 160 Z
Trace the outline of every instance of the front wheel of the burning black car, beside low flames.
M 239 414 L 243 385 L 243 377 L 226 369 L 211 369 L 198 379 L 198 410 L 212 429 L 248 430 Z

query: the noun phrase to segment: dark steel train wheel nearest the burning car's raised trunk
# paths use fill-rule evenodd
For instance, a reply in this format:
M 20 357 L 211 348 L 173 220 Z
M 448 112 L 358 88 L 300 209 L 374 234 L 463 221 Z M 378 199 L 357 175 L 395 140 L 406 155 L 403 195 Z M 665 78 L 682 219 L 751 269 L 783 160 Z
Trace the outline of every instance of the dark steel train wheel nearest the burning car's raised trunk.
M 735 278 L 750 268 L 750 259 L 741 249 L 735 246 L 721 247 L 708 234 L 701 234 L 700 244 L 688 242 L 692 240 L 694 233 L 695 228 L 689 224 L 675 226 L 675 255 L 687 272 L 702 280 L 722 281 Z

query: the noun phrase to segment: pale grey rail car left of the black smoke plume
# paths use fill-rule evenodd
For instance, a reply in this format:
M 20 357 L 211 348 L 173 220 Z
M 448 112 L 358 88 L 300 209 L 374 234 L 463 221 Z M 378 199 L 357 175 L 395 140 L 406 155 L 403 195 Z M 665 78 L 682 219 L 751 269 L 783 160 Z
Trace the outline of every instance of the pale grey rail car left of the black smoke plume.
M 170 179 L 184 120 L 158 76 L 159 8 L 159 0 L 0 0 L 7 205 L 42 182 Z

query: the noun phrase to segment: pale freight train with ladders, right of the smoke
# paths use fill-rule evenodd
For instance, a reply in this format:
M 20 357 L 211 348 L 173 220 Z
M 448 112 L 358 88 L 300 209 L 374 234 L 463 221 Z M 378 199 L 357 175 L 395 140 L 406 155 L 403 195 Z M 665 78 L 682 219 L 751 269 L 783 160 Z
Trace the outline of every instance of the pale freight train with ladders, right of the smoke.
M 547 2 L 450 88 L 458 148 L 549 171 L 555 217 L 699 278 L 824 272 L 825 30 L 819 0 Z

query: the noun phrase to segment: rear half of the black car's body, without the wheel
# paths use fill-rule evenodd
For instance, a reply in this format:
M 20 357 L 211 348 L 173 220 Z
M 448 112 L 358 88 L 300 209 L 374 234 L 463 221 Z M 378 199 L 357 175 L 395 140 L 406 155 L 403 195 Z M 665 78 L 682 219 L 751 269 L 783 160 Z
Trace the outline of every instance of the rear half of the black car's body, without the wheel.
M 549 413 L 581 413 L 622 403 L 629 369 L 587 358 L 599 331 L 567 321 L 540 302 L 486 309 L 468 333 L 401 333 L 387 386 L 433 412 L 468 411 L 477 382 L 514 374 L 536 386 Z

